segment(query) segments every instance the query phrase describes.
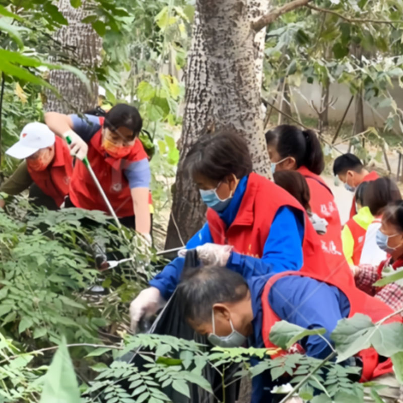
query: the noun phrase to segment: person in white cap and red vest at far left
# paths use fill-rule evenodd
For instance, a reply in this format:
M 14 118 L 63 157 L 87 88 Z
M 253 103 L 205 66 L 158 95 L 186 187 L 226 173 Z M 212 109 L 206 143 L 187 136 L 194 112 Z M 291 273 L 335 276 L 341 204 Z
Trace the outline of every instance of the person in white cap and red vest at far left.
M 58 209 L 69 193 L 73 173 L 73 159 L 65 142 L 46 124 L 32 122 L 22 129 L 20 140 L 6 154 L 25 161 L 0 191 L 19 194 L 31 186 L 30 196 L 35 194 L 36 205 Z M 0 207 L 4 207 L 4 200 L 0 200 Z

